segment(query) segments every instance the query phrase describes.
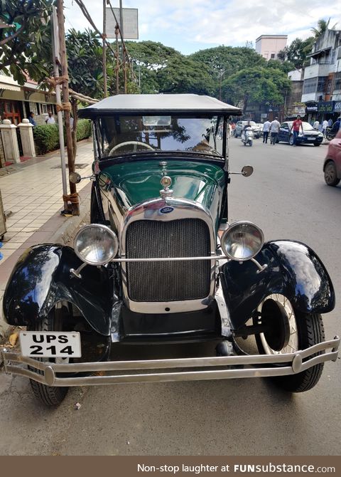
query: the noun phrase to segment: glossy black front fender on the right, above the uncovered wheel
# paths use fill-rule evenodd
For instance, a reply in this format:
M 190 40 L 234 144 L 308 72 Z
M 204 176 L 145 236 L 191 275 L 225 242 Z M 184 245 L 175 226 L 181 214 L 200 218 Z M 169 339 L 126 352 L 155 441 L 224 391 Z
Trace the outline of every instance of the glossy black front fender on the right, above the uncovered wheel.
M 332 281 L 320 258 L 304 243 L 271 241 L 255 257 L 267 267 L 257 273 L 256 265 L 229 261 L 220 270 L 222 290 L 232 326 L 249 320 L 266 296 L 285 295 L 303 313 L 327 313 L 335 307 Z

